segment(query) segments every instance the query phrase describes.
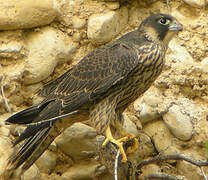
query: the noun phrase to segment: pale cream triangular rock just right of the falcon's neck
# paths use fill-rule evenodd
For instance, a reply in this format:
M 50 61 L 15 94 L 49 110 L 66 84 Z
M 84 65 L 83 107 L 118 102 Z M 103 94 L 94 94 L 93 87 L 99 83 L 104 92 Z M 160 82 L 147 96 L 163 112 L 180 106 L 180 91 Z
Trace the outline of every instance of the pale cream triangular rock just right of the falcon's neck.
M 173 38 L 169 46 L 170 50 L 172 51 L 171 54 L 168 54 L 166 59 L 172 59 L 176 62 L 183 62 L 183 63 L 194 63 L 192 56 L 188 53 L 185 47 L 181 46 L 176 38 Z

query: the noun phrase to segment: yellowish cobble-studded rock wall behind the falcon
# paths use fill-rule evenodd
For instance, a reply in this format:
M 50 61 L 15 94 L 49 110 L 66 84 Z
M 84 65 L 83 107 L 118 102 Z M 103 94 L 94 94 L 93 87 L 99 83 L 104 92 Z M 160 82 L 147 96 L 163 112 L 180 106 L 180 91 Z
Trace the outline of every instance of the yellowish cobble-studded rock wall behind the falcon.
M 167 4 L 168 2 L 168 4 Z M 169 45 L 162 75 L 125 112 L 125 127 L 139 137 L 133 158 L 156 154 L 208 156 L 207 0 L 7 0 L 0 3 L 0 175 L 23 127 L 6 126 L 11 114 L 37 103 L 43 84 L 102 44 L 134 30 L 150 13 L 170 13 L 184 31 Z M 95 158 L 103 137 L 84 124 L 68 128 L 23 175 L 25 180 L 107 180 Z M 208 177 L 185 161 L 144 166 L 139 175 L 165 172 L 187 180 Z

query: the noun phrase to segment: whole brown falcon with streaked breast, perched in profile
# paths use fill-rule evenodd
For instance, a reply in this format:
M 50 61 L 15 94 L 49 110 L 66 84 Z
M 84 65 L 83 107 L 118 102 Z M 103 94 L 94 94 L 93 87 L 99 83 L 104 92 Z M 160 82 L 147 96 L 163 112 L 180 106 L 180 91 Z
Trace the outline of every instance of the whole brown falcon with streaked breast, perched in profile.
M 122 112 L 143 94 L 163 69 L 171 38 L 182 30 L 172 16 L 154 14 L 139 28 L 115 42 L 102 46 L 39 92 L 44 100 L 21 111 L 6 123 L 27 124 L 14 143 L 21 143 L 11 155 L 9 168 L 21 166 L 24 173 L 65 128 L 90 119 L 98 133 L 118 145 L 126 161 L 121 141 L 113 139 L 110 127 L 120 133 Z

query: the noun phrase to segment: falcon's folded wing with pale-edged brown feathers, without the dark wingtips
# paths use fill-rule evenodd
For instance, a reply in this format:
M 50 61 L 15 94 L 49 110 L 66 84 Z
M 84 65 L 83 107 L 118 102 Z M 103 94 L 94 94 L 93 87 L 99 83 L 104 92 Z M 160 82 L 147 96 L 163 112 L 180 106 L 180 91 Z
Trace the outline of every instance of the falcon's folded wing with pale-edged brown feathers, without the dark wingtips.
M 61 99 L 63 108 L 73 111 L 125 79 L 143 59 L 142 48 L 137 51 L 132 44 L 119 40 L 103 46 L 44 86 L 40 94 Z

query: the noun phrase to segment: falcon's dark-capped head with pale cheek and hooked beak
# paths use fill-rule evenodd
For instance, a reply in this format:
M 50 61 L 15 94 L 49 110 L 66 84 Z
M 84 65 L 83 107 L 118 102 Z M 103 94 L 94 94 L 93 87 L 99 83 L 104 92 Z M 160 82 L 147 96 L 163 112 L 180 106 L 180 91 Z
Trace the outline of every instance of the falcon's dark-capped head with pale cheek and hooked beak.
M 168 45 L 175 34 L 183 30 L 176 18 L 167 14 L 152 14 L 139 26 L 149 40 L 162 41 Z

